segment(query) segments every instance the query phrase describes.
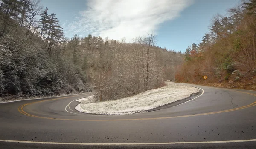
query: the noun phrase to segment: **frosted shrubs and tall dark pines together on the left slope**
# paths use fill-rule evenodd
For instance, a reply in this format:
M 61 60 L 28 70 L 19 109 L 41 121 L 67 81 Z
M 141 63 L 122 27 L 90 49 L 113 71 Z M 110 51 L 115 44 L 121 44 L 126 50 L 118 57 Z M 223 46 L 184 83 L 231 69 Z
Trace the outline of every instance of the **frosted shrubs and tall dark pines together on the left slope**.
M 0 0 L 0 98 L 89 89 L 86 73 L 63 58 L 66 41 L 55 14 L 46 9 L 38 22 L 40 13 L 39 0 Z

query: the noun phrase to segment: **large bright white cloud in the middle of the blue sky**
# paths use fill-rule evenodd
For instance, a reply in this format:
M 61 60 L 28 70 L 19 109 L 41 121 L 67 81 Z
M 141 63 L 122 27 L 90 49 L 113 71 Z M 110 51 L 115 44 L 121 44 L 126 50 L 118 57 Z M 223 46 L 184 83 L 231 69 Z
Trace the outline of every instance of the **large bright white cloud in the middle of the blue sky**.
M 67 36 L 88 33 L 119 40 L 146 32 L 157 32 L 159 25 L 179 17 L 192 0 L 88 0 L 87 10 L 76 21 L 64 26 Z

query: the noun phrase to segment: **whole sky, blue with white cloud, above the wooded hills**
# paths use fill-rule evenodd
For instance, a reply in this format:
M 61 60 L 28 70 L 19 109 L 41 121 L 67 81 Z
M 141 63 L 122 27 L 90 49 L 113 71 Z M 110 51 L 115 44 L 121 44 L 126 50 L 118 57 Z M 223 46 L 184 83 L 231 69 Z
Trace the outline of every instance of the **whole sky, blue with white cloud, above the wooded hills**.
M 157 35 L 157 45 L 184 52 L 200 43 L 212 17 L 240 0 L 41 0 L 48 13 L 55 13 L 65 36 L 88 34 L 103 39 L 132 42 L 147 33 Z

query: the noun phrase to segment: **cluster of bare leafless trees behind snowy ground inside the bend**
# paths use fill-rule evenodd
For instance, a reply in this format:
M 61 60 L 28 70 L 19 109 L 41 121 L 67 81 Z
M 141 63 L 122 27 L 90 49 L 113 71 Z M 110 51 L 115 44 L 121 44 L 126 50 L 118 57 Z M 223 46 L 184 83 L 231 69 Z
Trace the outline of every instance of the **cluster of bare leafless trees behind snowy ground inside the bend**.
M 110 50 L 102 56 L 108 59 L 109 66 L 97 71 L 99 74 L 92 79 L 98 90 L 96 101 L 128 97 L 164 85 L 163 67 L 157 60 L 157 51 L 161 49 L 154 45 L 153 34 L 136 37 L 134 43 L 125 43 L 125 40 L 109 43 Z

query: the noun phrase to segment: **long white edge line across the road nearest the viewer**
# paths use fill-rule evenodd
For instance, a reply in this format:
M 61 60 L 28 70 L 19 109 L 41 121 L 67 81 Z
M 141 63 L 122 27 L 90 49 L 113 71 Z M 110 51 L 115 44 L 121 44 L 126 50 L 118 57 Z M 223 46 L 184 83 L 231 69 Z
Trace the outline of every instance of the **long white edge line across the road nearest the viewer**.
M 159 143 L 71 143 L 71 142 L 37 142 L 37 141 L 19 141 L 19 140 L 0 140 L 0 142 L 11 143 L 33 143 L 33 144 L 64 144 L 64 145 L 163 145 L 163 144 L 208 144 L 208 143 L 238 143 L 254 142 L 250 140 L 228 140 L 228 141 L 202 141 L 202 142 L 159 142 Z

